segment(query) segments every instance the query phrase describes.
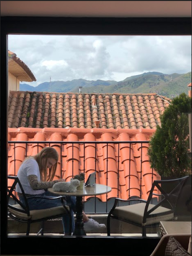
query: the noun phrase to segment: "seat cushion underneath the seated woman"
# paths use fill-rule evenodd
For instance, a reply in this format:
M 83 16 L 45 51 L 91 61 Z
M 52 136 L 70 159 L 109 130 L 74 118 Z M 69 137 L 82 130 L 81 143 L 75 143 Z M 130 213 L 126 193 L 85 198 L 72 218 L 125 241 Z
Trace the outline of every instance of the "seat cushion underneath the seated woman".
M 8 211 L 15 215 L 18 218 L 27 220 L 31 218 L 31 220 L 37 220 L 41 218 L 46 218 L 46 217 L 54 217 L 56 215 L 62 215 L 62 214 L 67 214 L 67 211 L 63 206 L 57 206 L 57 207 L 52 207 L 49 209 L 44 209 L 44 210 L 33 210 L 30 211 L 30 216 L 27 216 L 27 214 L 20 213 L 17 211 L 17 209 L 23 210 L 23 208 L 19 204 L 15 204 L 14 207 L 16 210 L 13 210 L 8 207 Z M 69 210 L 69 206 L 66 206 Z

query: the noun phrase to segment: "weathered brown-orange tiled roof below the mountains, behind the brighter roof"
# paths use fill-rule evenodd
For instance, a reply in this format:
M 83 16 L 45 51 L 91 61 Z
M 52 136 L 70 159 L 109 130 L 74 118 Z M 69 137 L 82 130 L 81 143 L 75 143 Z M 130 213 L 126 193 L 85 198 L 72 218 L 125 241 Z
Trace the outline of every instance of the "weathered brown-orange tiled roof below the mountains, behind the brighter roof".
M 164 100 L 165 99 L 165 100 Z M 171 99 L 157 94 L 10 91 L 8 127 L 156 129 Z

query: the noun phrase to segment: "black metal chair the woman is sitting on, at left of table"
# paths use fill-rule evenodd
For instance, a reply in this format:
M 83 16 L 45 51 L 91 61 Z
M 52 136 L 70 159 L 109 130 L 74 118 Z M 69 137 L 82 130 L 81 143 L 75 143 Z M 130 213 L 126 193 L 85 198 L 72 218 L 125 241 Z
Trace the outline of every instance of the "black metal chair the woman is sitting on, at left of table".
M 42 197 L 28 197 L 27 198 L 18 177 L 17 176 L 8 176 L 8 179 L 13 180 L 12 186 L 8 187 L 8 216 L 19 221 L 19 222 L 27 223 L 26 236 L 29 236 L 31 223 L 41 222 L 41 229 L 39 230 L 37 235 L 41 234 L 41 236 L 43 236 L 43 228 L 44 228 L 45 220 L 63 217 L 66 215 L 68 215 L 70 217 L 70 234 L 71 234 L 71 227 L 72 227 L 71 223 L 72 222 L 71 222 L 69 206 L 64 205 L 62 196 L 46 198 L 47 200 L 55 200 L 55 199 L 60 198 L 62 206 L 57 206 L 57 207 L 53 207 L 50 209 L 44 209 L 44 210 L 30 211 L 27 199 L 28 198 L 42 198 Z M 17 183 L 22 191 L 22 196 L 24 198 L 25 205 L 16 196 L 15 187 L 16 187 Z M 17 204 L 14 204 L 14 202 L 17 202 Z

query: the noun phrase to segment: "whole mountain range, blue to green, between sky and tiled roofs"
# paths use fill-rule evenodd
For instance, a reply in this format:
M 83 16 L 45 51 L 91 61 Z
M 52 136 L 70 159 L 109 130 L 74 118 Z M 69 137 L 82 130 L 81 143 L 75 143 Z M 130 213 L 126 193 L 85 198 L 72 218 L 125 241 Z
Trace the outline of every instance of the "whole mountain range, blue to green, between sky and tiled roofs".
M 36 92 L 59 92 L 79 93 L 79 87 L 82 93 L 157 93 L 168 98 L 174 98 L 181 93 L 188 95 L 189 87 L 192 81 L 192 72 L 186 74 L 163 74 L 160 72 L 147 72 L 137 76 L 128 77 L 122 81 L 115 80 L 86 80 L 73 79 L 71 81 L 52 81 L 43 82 L 34 87 L 28 84 L 20 83 L 20 91 Z

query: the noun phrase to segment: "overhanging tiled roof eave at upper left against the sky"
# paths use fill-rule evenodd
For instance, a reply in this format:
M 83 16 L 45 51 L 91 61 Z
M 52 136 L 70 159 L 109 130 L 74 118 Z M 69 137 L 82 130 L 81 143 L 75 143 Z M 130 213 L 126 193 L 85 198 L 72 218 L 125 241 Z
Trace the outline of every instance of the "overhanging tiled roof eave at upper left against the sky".
M 36 81 L 29 67 L 11 51 L 8 51 L 8 72 L 17 77 L 20 81 Z

